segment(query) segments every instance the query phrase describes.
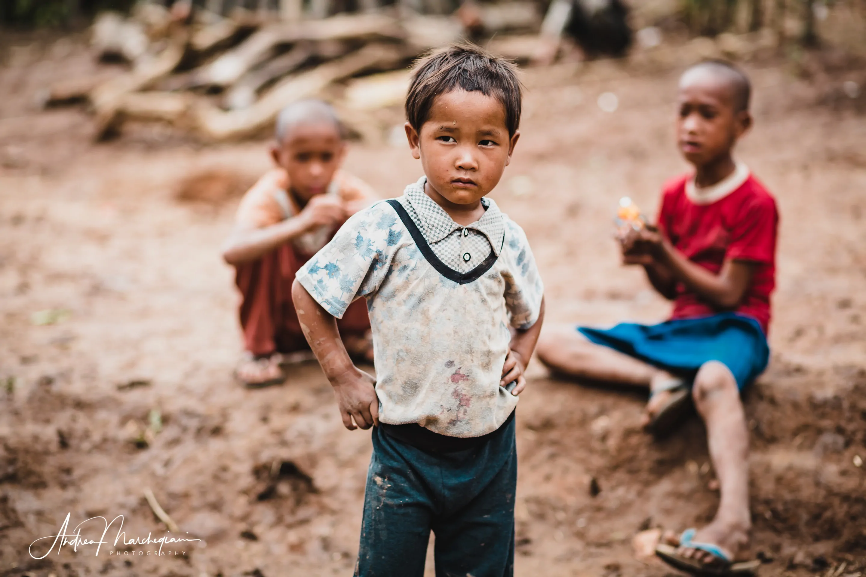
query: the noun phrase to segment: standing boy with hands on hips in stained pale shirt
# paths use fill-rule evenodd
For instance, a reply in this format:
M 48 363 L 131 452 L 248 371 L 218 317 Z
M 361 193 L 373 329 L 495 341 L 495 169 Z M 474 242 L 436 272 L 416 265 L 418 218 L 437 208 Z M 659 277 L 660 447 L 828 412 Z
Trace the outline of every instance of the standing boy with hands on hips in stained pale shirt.
M 514 67 L 474 46 L 431 54 L 406 117 L 425 176 L 346 221 L 292 289 L 343 424 L 375 425 L 355 574 L 421 577 L 432 530 L 436 574 L 511 575 L 514 407 L 543 314 L 527 237 L 485 197 L 520 136 Z M 375 379 L 334 321 L 359 297 Z

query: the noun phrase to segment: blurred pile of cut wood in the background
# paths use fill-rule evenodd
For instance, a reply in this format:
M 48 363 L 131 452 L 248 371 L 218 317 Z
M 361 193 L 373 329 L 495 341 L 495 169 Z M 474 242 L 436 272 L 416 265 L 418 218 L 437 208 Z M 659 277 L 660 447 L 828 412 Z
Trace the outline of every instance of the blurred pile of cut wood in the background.
M 86 102 L 97 138 L 134 119 L 216 142 L 261 135 L 283 106 L 318 97 L 351 110 L 343 114 L 350 128 L 366 135 L 365 114 L 402 101 L 407 66 L 419 54 L 470 38 L 527 59 L 539 27 L 536 4 L 525 1 L 464 3 L 452 16 L 397 4 L 325 18 L 245 10 L 221 16 L 191 3 L 139 3 L 128 17 L 99 16 L 92 29 L 96 57 L 126 61 L 126 72 L 56 84 L 42 101 Z

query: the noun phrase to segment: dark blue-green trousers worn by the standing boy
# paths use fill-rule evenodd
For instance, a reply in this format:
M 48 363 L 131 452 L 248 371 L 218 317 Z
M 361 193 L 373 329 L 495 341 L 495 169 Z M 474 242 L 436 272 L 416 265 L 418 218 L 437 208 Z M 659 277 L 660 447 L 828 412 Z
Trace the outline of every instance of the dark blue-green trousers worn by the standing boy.
M 355 575 L 423 577 L 430 531 L 436 577 L 514 575 L 514 419 L 480 446 L 428 452 L 372 431 Z

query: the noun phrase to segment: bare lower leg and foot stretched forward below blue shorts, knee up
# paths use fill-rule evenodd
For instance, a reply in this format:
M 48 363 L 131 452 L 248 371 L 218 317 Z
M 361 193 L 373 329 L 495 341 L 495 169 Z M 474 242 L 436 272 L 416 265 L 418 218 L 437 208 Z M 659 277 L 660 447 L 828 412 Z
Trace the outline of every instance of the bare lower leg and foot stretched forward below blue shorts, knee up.
M 701 366 L 692 390 L 695 407 L 707 424 L 710 458 L 719 478 L 721 502 L 715 518 L 700 529 L 695 542 L 713 543 L 736 558 L 749 541 L 749 439 L 746 414 L 734 375 L 721 362 Z M 683 551 L 695 559 L 711 556 L 696 549 Z

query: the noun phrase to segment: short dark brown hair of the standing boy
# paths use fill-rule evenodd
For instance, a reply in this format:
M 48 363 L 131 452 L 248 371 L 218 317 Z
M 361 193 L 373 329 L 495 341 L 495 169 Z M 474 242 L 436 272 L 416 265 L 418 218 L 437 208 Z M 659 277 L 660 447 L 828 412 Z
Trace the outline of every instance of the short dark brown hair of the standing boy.
M 478 91 L 501 102 L 508 136 L 514 136 L 520 126 L 520 88 L 511 62 L 474 44 L 452 44 L 416 62 L 406 95 L 406 119 L 420 132 L 436 96 L 457 89 Z

